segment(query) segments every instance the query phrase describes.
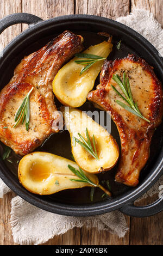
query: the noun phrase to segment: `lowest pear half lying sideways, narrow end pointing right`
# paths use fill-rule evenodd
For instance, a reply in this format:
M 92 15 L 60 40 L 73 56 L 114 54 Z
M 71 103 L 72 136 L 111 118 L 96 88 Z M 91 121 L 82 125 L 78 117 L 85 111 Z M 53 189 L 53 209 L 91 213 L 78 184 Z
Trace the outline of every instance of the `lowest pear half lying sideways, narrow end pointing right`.
M 18 165 L 18 178 L 21 184 L 35 194 L 53 194 L 61 190 L 91 186 L 85 182 L 74 182 L 79 179 L 68 168 L 68 164 L 79 169 L 78 165 L 64 157 L 34 152 L 24 156 Z M 85 173 L 85 172 L 84 172 Z M 96 175 L 85 173 L 94 184 L 98 185 Z

